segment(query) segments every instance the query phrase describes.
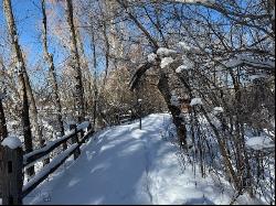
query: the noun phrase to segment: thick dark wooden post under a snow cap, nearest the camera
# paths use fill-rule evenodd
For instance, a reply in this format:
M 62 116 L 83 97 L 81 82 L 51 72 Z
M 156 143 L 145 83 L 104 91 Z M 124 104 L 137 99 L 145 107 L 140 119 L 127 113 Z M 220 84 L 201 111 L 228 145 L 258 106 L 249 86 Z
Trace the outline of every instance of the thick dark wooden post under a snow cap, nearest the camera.
M 22 148 L 10 149 L 0 145 L 2 154 L 1 163 L 1 184 L 2 204 L 22 205 L 23 187 L 23 151 Z

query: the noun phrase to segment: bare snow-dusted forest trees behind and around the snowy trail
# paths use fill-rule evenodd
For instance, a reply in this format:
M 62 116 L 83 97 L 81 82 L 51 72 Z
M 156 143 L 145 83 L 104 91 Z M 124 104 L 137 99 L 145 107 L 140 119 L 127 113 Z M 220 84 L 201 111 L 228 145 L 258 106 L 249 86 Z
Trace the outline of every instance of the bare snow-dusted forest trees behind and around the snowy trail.
M 35 0 L 25 17 L 19 2 L 0 6 L 0 141 L 30 152 L 72 121 L 170 112 L 183 164 L 275 204 L 275 150 L 246 147 L 275 141 L 274 0 Z

